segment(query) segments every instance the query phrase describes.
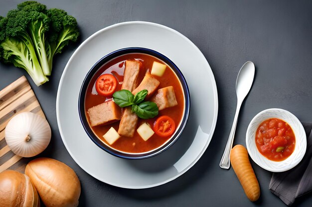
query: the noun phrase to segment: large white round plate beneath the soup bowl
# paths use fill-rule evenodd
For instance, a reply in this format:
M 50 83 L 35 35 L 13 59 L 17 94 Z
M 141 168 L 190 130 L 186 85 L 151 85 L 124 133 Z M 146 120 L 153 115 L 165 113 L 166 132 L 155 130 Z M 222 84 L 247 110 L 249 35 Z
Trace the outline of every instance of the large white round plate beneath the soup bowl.
M 128 47 L 143 47 L 165 55 L 182 71 L 191 108 L 181 137 L 166 151 L 142 160 L 108 154 L 85 133 L 78 114 L 82 82 L 105 55 Z M 143 189 L 167 183 L 191 168 L 207 148 L 217 121 L 218 96 L 213 73 L 200 50 L 179 32 L 151 22 L 124 22 L 106 27 L 84 41 L 68 61 L 56 99 L 63 142 L 76 163 L 110 185 Z

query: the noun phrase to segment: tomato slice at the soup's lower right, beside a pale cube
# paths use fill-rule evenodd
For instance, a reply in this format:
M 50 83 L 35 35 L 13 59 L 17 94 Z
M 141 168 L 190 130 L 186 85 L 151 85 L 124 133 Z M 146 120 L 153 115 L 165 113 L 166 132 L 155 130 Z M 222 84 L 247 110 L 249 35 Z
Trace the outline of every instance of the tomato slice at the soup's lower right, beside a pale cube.
M 154 132 L 160 137 L 168 137 L 173 134 L 174 130 L 174 121 L 168 116 L 161 116 L 154 123 Z

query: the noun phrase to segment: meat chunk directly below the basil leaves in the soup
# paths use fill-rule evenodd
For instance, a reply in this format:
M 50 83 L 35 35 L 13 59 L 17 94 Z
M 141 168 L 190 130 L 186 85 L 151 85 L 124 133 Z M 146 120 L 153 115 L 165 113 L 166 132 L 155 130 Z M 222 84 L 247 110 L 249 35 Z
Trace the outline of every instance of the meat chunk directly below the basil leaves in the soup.
M 139 117 L 132 112 L 131 106 L 124 108 L 123 116 L 119 124 L 118 134 L 132 138 L 137 129 L 138 120 Z

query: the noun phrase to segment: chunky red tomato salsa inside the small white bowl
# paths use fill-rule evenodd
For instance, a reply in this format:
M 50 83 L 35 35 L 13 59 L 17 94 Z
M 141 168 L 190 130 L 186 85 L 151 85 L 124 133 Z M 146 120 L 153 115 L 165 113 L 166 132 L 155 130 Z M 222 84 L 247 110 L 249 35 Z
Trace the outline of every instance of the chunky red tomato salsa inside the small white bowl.
M 281 119 L 268 119 L 256 132 L 256 145 L 260 153 L 272 161 L 283 161 L 295 149 L 296 138 L 289 124 Z

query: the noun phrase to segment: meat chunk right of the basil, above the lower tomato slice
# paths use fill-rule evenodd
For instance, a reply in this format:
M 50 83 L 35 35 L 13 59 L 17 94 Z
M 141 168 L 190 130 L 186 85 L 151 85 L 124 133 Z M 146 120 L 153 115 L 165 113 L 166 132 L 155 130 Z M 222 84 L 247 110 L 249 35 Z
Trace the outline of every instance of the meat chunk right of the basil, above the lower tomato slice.
M 172 86 L 158 89 L 151 101 L 156 103 L 159 111 L 177 105 Z

